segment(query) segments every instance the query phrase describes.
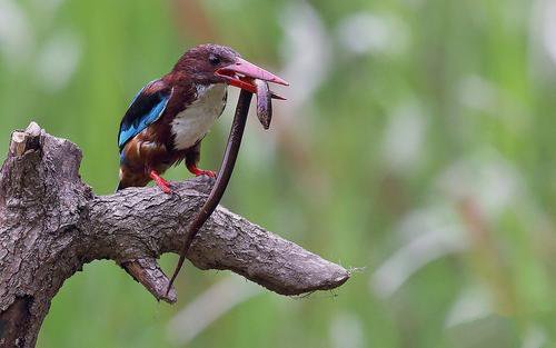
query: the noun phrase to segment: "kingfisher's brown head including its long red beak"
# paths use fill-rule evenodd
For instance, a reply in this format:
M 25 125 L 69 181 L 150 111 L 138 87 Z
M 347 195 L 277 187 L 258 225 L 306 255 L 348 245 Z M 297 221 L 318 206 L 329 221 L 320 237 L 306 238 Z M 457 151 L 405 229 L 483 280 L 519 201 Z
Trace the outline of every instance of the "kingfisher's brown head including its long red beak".
M 228 83 L 256 91 L 254 79 L 288 86 L 279 77 L 242 59 L 226 46 L 199 44 L 188 50 L 176 63 L 172 72 L 185 72 L 196 83 Z

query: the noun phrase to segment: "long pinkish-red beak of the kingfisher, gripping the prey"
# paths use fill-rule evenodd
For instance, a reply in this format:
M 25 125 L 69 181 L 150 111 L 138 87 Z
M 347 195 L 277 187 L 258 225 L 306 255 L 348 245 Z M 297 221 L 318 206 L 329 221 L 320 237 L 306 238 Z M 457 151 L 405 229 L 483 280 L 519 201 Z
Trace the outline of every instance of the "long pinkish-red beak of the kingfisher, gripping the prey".
M 257 93 L 257 86 L 252 81 L 254 79 L 259 79 L 272 83 L 289 86 L 288 82 L 280 79 L 276 74 L 268 72 L 267 70 L 257 67 L 254 63 L 248 62 L 245 59 L 236 58 L 236 61 L 229 66 L 216 70 L 216 74 L 228 80 L 228 83 L 251 93 Z M 271 92 L 272 98 L 285 100 L 286 98 Z

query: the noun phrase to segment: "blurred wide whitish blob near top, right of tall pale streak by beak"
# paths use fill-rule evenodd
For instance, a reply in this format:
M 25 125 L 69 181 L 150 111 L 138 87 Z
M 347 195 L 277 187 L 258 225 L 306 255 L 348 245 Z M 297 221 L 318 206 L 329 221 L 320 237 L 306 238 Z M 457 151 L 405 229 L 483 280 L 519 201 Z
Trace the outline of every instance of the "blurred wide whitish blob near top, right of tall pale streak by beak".
M 337 37 L 344 49 L 355 54 L 400 54 L 407 49 L 409 30 L 398 17 L 359 12 L 340 21 Z

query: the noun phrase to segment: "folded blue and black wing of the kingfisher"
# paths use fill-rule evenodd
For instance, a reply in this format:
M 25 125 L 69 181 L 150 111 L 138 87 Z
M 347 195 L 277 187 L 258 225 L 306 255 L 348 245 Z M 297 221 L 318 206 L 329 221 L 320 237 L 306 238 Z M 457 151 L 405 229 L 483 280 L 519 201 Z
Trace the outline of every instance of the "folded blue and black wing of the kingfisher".
M 118 135 L 120 151 L 131 138 L 160 118 L 170 100 L 171 89 L 162 87 L 152 91 L 153 82 L 148 83 L 137 93 L 121 120 Z

